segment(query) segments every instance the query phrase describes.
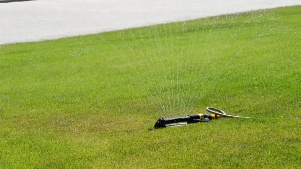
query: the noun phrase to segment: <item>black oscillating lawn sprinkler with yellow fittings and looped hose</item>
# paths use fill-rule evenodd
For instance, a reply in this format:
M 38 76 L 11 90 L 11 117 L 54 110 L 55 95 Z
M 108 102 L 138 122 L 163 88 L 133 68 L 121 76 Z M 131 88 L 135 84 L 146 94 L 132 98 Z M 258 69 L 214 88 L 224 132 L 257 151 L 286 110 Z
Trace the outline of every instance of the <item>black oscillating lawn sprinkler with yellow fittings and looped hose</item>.
M 154 125 L 154 129 L 186 126 L 188 124 L 198 123 L 198 122 L 210 122 L 211 120 L 220 117 L 258 119 L 258 118 L 251 118 L 251 117 L 228 115 L 224 111 L 214 107 L 206 107 L 206 110 L 211 114 L 195 114 L 195 115 L 187 115 L 187 116 L 175 117 L 175 118 L 160 118 L 157 120 L 156 124 Z

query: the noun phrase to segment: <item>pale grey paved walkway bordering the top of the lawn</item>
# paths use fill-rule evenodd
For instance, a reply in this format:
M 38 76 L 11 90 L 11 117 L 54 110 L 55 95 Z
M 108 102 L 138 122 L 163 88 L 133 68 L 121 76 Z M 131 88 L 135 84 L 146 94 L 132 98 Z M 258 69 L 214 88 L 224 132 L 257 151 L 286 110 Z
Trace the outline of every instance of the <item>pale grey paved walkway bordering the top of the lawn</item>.
M 301 0 L 34 0 L 0 3 L 0 44 L 297 4 L 301 4 Z

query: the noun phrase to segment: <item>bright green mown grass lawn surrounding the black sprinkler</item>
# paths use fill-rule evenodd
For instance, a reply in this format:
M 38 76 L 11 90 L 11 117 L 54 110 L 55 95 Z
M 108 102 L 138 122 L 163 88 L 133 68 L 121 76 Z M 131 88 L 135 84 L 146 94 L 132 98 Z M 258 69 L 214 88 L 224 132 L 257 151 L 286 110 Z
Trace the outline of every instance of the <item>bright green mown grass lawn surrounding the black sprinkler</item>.
M 301 6 L 0 46 L 0 168 L 298 168 Z M 148 131 L 157 118 L 219 119 Z

